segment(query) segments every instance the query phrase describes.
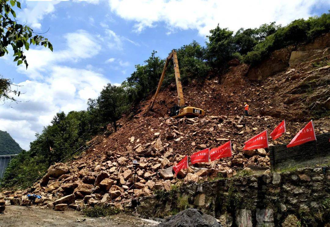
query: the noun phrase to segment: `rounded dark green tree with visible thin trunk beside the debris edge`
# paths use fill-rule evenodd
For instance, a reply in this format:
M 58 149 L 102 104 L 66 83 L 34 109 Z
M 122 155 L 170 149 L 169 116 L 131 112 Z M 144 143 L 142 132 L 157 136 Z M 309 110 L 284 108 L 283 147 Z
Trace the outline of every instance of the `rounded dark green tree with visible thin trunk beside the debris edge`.
M 117 131 L 116 121 L 129 107 L 127 93 L 123 87 L 108 83 L 97 98 L 97 106 L 102 122 L 112 122 Z

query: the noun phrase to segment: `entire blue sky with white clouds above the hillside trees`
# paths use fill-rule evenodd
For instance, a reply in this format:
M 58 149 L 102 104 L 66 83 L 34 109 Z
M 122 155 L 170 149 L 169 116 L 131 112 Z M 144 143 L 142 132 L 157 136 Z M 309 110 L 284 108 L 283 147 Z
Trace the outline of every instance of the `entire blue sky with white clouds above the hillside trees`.
M 11 55 L 0 58 L 0 74 L 25 94 L 22 102 L 0 105 L 0 130 L 28 149 L 35 133 L 55 113 L 86 109 L 108 82 L 120 84 L 143 64 L 152 50 L 165 58 L 192 40 L 204 44 L 217 23 L 236 31 L 276 21 L 326 13 L 326 0 L 88 0 L 21 1 L 21 23 L 53 44 L 54 51 L 33 47 L 26 52 L 28 70 Z

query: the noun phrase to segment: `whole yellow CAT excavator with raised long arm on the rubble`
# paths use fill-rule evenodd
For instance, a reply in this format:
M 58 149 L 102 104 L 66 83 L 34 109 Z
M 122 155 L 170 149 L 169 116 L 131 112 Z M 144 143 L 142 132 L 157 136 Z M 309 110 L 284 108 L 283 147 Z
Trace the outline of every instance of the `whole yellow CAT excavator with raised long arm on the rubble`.
M 152 103 L 149 107 L 149 110 L 152 110 L 153 104 L 156 101 L 156 97 L 158 95 L 158 92 L 160 90 L 160 87 L 163 83 L 166 68 L 168 66 L 168 63 L 170 62 L 171 58 L 173 58 L 173 65 L 174 65 L 174 73 L 175 73 L 175 80 L 177 82 L 177 91 L 178 91 L 178 106 L 174 106 L 170 110 L 170 116 L 175 118 L 175 117 L 183 117 L 183 116 L 199 116 L 199 115 L 204 115 L 205 112 L 202 109 L 196 108 L 196 107 L 191 107 L 191 106 L 185 106 L 184 105 L 184 98 L 183 98 L 183 91 L 182 91 L 182 85 L 181 85 L 181 79 L 180 79 L 180 71 L 179 71 L 179 63 L 178 63 L 178 57 L 177 57 L 177 52 L 175 50 L 172 50 L 170 55 L 166 58 L 165 66 L 162 72 L 162 75 L 160 77 L 157 91 L 155 96 L 152 99 Z

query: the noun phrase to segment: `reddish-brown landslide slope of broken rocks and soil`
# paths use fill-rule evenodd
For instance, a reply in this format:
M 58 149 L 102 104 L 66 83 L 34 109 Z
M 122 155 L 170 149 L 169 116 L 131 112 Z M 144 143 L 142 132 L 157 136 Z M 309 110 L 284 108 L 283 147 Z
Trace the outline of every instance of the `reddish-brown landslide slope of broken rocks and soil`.
M 170 86 L 159 93 L 152 112 L 146 111 L 150 100 L 142 102 L 140 113 L 118 122 L 117 132 L 98 136 L 98 142 L 74 160 L 49 167 L 33 188 L 4 192 L 5 199 L 11 204 L 29 205 L 26 194 L 33 191 L 42 195 L 37 204 L 51 208 L 61 205 L 57 207 L 64 210 L 129 203 L 133 159 L 139 162 L 135 197 L 170 190 L 173 184 L 182 182 L 232 177 L 246 167 L 267 171 L 270 162 L 266 150 L 243 151 L 243 143 L 252 136 L 265 129 L 270 133 L 283 118 L 286 133 L 276 141 L 270 140 L 270 146 L 288 143 L 310 119 L 315 119 L 316 134 L 329 130 L 329 40 L 327 34 L 295 50 L 277 50 L 254 68 L 232 61 L 229 71 L 219 78 L 185 85 L 186 100 L 204 109 L 204 117 L 169 117 L 168 109 L 177 102 L 175 85 Z M 242 117 L 244 102 L 250 104 L 249 117 Z M 178 177 L 173 175 L 172 166 L 184 155 L 229 140 L 232 157 L 190 165 Z

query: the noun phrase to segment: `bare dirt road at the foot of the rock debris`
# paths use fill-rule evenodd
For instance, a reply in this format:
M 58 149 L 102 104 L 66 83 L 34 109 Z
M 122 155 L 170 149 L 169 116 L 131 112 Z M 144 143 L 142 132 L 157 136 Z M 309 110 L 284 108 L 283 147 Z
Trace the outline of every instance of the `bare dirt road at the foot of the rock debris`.
M 85 219 L 85 220 L 84 220 Z M 0 214 L 0 227 L 147 227 L 157 222 L 118 214 L 104 218 L 88 218 L 77 211 L 54 211 L 39 207 L 7 206 Z

